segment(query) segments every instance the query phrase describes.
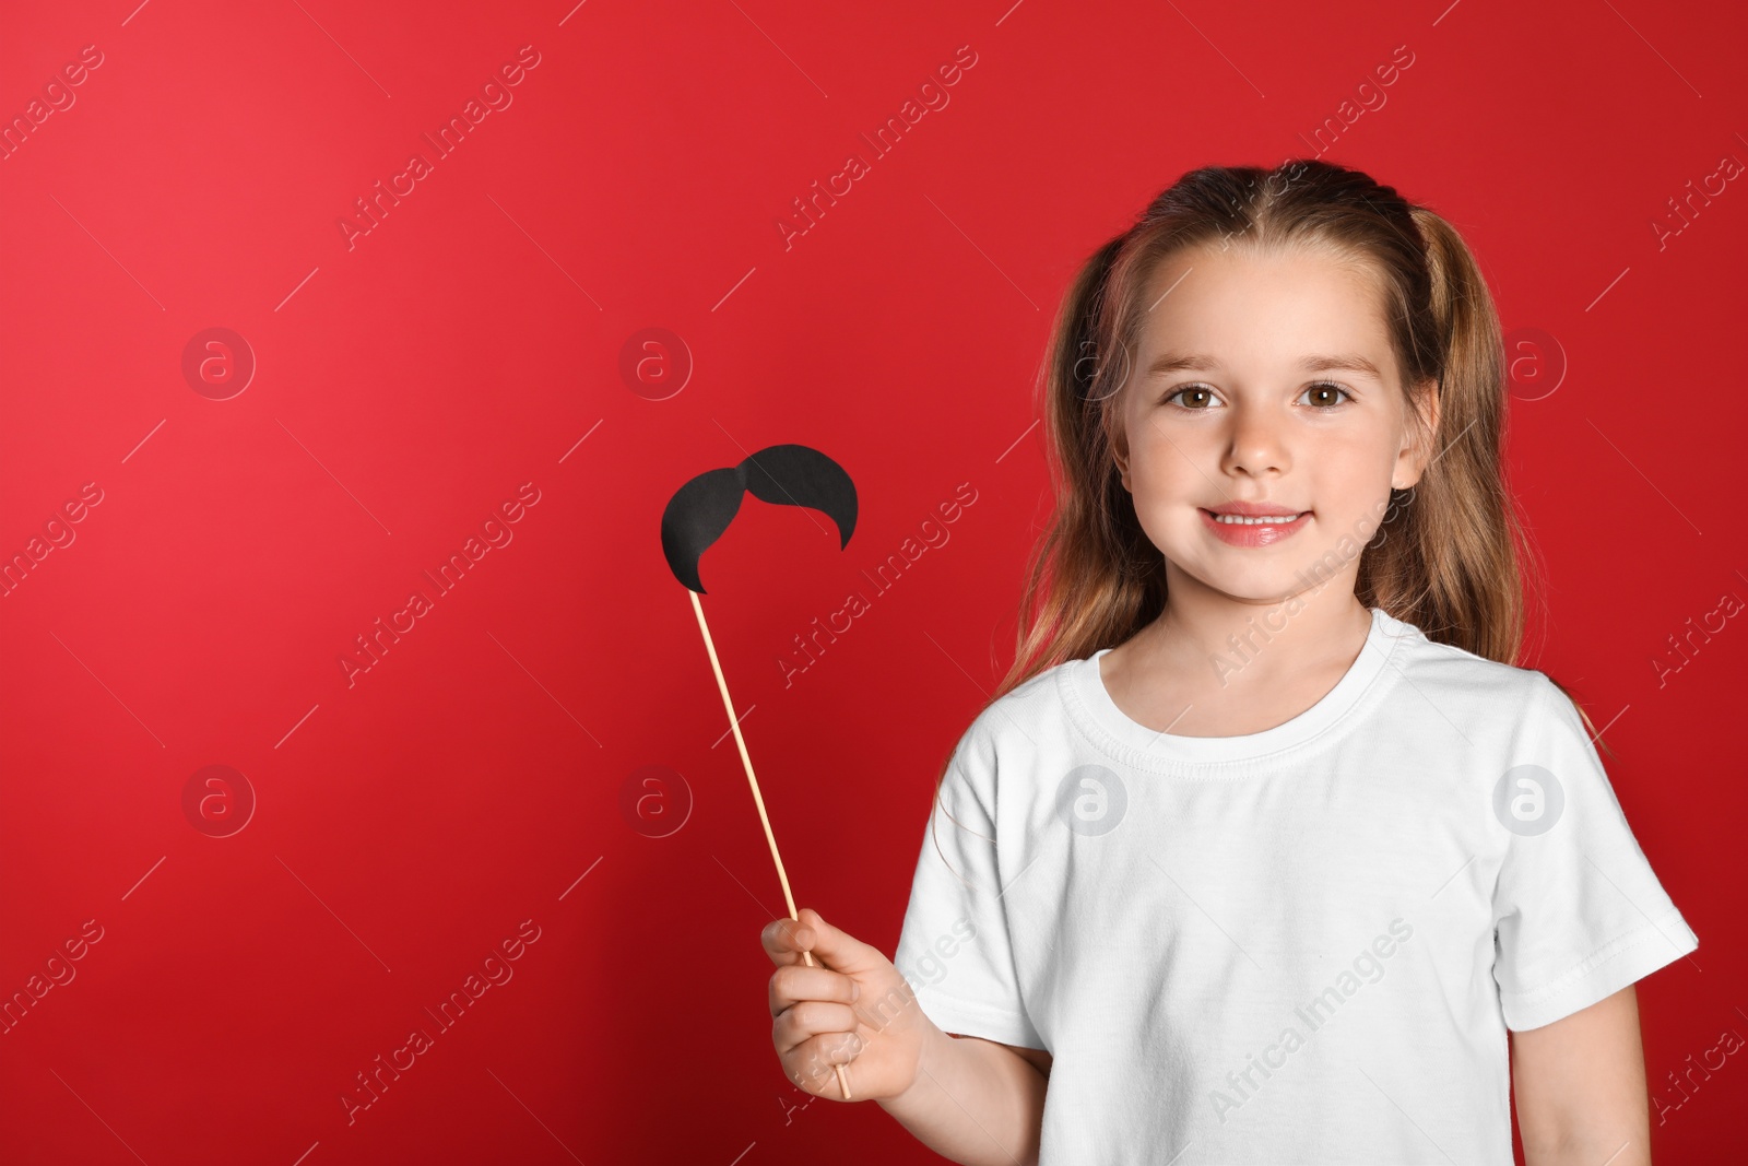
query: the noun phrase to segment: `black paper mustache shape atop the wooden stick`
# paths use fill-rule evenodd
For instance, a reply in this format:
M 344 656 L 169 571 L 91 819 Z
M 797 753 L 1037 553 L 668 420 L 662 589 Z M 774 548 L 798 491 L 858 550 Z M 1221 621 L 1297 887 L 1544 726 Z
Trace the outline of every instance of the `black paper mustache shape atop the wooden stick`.
M 809 446 L 766 446 L 739 465 L 704 470 L 668 500 L 661 549 L 673 577 L 699 594 L 697 559 L 722 537 L 752 493 L 760 502 L 823 510 L 837 523 L 843 551 L 857 530 L 857 484 L 844 467 Z

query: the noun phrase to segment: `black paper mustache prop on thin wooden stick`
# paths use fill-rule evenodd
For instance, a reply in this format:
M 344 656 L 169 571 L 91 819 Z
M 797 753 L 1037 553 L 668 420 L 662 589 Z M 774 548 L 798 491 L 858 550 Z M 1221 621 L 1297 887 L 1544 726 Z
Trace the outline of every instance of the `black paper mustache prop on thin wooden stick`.
M 741 766 L 746 769 L 746 781 L 753 787 L 753 804 L 759 806 L 759 822 L 764 823 L 766 841 L 771 843 L 771 858 L 776 862 L 776 878 L 783 885 L 783 902 L 788 904 L 788 918 L 801 921 L 795 911 L 795 897 L 788 890 L 788 874 L 783 872 L 783 857 L 776 853 L 776 836 L 771 832 L 771 818 L 764 811 L 764 797 L 759 795 L 759 778 L 753 776 L 753 759 L 746 753 L 746 741 L 741 738 L 741 722 L 734 715 L 734 701 L 729 699 L 729 682 L 722 678 L 722 663 L 717 659 L 717 645 L 710 640 L 710 624 L 704 622 L 704 605 L 697 596 L 704 584 L 697 577 L 697 559 L 710 545 L 722 537 L 741 509 L 741 498 L 752 495 L 760 502 L 776 505 L 799 505 L 823 510 L 837 523 L 839 544 L 843 551 L 850 545 L 850 535 L 857 528 L 857 486 L 850 481 L 844 467 L 827 458 L 818 449 L 808 446 L 767 446 L 750 455 L 745 462 L 722 470 L 704 470 L 675 491 L 668 500 L 668 509 L 661 516 L 661 549 L 668 556 L 668 566 L 692 596 L 692 610 L 697 614 L 697 629 L 704 636 L 704 650 L 710 652 L 710 668 L 717 673 L 717 689 L 722 692 L 722 706 L 729 713 L 729 727 L 734 731 L 734 743 L 741 750 Z M 802 961 L 815 967 L 813 953 L 802 951 Z M 844 1066 L 837 1065 L 837 1089 L 850 1100 L 850 1079 Z

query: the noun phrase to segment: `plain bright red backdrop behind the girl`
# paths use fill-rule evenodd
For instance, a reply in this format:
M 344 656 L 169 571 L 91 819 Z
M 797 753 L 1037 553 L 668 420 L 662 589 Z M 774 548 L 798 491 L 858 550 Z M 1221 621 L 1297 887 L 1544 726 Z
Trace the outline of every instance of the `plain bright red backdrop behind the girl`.
M 101 491 L 0 603 L 0 993 L 101 928 L 0 1037 L 7 1163 L 932 1159 L 781 1075 L 783 900 L 661 509 L 778 442 L 855 477 L 844 551 L 748 502 L 704 607 L 797 900 L 890 954 L 935 769 L 1012 654 L 1066 281 L 1182 171 L 1311 154 L 1398 45 L 1325 156 L 1446 213 L 1507 330 L 1540 330 L 1523 663 L 1608 725 L 1701 937 L 1640 984 L 1652 1093 L 1683 1101 L 1659 1159 L 1739 1154 L 1743 1054 L 1685 1100 L 1668 1075 L 1748 1035 L 1748 628 L 1657 661 L 1748 598 L 1722 481 L 1748 191 L 1652 226 L 1748 159 L 1739 5 L 135 3 L 9 3 L 0 40 L 7 121 L 101 52 L 0 161 L 0 552 Z M 353 201 L 523 45 L 512 105 L 348 246 Z M 874 157 L 858 135 L 961 45 L 951 103 Z M 785 246 L 851 152 L 869 173 Z M 225 400 L 182 372 L 212 327 L 257 362 Z M 647 327 L 694 362 L 664 400 L 621 374 Z M 514 540 L 348 684 L 355 636 L 524 482 Z M 961 482 L 951 542 L 874 596 Z M 872 610 L 785 684 L 853 589 Z M 227 837 L 184 808 L 215 764 L 241 780 L 208 829 L 255 799 Z M 666 837 L 621 808 L 643 766 L 680 774 L 645 830 L 692 801 Z M 514 979 L 435 1031 L 524 920 Z M 434 1047 L 348 1124 L 414 1026 Z

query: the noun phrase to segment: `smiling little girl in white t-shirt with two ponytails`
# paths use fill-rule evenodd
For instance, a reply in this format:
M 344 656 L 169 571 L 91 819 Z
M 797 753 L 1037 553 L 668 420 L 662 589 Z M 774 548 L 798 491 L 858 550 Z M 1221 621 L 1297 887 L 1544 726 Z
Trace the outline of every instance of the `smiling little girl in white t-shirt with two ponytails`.
M 790 1080 L 956 1163 L 1510 1166 L 1516 1073 L 1531 1166 L 1648 1164 L 1633 982 L 1699 940 L 1512 664 L 1502 369 L 1461 238 L 1353 170 L 1197 170 L 1101 246 L 895 963 L 764 930 Z

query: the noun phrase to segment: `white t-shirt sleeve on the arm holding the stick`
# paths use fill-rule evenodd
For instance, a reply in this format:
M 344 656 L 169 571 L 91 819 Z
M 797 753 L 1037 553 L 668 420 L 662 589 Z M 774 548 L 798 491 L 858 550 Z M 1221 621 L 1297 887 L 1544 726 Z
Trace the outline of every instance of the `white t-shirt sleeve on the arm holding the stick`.
M 923 832 L 893 963 L 942 1031 L 1042 1049 L 1026 1014 L 996 848 L 996 759 L 961 738 Z

